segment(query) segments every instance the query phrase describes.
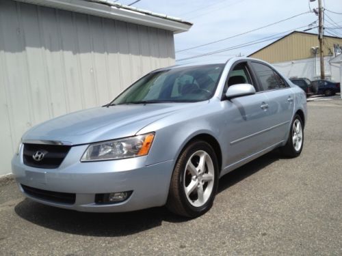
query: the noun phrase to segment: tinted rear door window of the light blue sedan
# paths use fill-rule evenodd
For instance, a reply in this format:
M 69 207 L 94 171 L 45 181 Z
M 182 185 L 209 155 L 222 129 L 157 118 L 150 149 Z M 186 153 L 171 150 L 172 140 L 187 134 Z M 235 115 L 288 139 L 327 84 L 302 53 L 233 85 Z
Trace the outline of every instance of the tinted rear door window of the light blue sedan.
M 280 84 L 280 81 L 277 77 L 278 74 L 276 74 L 272 68 L 257 62 L 252 62 L 252 66 L 257 73 L 263 91 L 284 87 L 284 85 Z

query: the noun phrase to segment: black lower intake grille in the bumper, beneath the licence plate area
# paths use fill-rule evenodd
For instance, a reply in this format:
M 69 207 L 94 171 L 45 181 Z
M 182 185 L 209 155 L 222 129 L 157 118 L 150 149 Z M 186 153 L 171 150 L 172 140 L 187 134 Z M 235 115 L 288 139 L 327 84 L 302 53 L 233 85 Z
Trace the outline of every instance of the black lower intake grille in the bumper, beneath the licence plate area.
M 37 199 L 68 204 L 74 204 L 76 200 L 76 194 L 72 193 L 61 193 L 49 190 L 42 190 L 39 188 L 32 188 L 31 186 L 25 186 L 23 184 L 21 184 L 21 187 L 27 195 L 36 197 Z

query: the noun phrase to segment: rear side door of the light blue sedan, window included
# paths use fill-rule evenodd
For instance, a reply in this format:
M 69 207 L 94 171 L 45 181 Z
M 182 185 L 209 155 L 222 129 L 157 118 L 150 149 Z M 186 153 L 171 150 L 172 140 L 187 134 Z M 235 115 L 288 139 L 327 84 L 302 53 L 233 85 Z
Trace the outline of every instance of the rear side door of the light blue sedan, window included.
M 267 132 L 265 139 L 271 145 L 285 141 L 291 125 L 294 109 L 294 94 L 285 79 L 272 67 L 259 61 L 251 61 L 261 94 L 267 98 Z

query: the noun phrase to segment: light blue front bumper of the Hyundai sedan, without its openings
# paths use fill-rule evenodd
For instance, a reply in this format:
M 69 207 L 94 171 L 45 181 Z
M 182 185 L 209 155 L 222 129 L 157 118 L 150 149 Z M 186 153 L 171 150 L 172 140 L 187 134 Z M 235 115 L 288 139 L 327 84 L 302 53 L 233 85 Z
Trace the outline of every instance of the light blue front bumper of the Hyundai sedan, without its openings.
M 87 145 L 74 146 L 57 169 L 24 165 L 23 152 L 12 159 L 12 172 L 21 192 L 34 201 L 82 212 L 129 212 L 166 203 L 174 160 L 145 165 L 146 156 L 122 160 L 80 162 Z M 22 149 L 21 149 L 22 151 Z M 24 192 L 21 184 L 58 193 L 75 193 L 75 203 L 57 203 Z M 120 203 L 98 204 L 95 195 L 133 191 Z

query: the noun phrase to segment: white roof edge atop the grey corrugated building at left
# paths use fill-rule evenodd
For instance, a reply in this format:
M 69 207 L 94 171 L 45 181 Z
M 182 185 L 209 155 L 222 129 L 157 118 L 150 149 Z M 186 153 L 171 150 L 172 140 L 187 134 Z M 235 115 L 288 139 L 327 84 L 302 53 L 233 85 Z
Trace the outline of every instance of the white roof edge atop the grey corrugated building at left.
M 192 27 L 189 23 L 180 18 L 165 14 L 158 14 L 148 10 L 142 10 L 133 6 L 114 3 L 113 0 L 16 0 L 24 3 L 47 6 L 71 12 L 81 12 L 114 20 L 122 20 L 127 23 L 135 23 L 148 27 L 156 27 L 181 33 Z

